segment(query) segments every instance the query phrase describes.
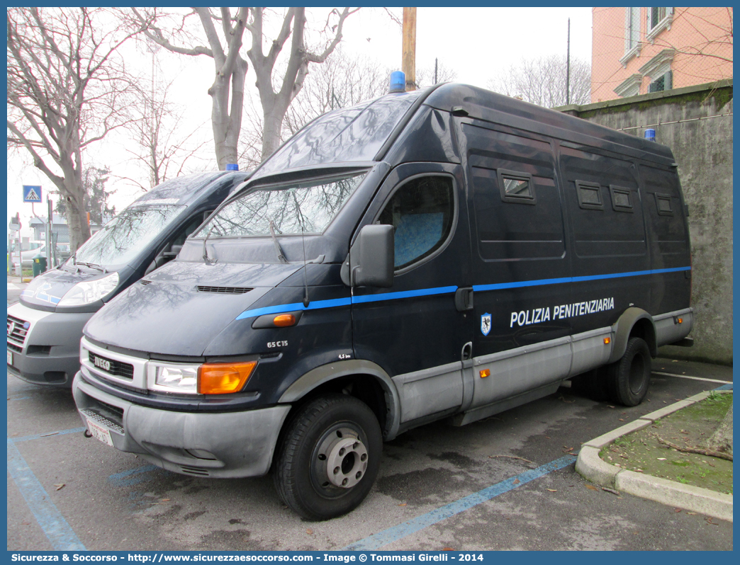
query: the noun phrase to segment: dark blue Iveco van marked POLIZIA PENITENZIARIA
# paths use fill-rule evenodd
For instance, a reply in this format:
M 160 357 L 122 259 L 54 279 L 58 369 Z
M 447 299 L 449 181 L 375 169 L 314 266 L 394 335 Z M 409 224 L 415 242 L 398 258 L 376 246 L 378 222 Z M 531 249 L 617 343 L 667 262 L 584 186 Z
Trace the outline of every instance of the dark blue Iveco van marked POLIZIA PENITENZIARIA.
M 690 276 L 667 147 L 460 84 L 390 94 L 303 128 L 92 317 L 75 402 L 119 450 L 272 469 L 332 518 L 412 427 L 584 374 L 641 402 L 690 332 Z

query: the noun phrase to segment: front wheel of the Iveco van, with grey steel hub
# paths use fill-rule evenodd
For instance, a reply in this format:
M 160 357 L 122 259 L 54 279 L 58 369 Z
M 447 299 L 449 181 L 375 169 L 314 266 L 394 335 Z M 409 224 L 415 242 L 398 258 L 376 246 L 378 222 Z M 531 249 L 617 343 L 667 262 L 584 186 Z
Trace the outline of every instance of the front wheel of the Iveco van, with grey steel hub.
M 303 518 L 346 514 L 370 492 L 382 450 L 380 424 L 364 402 L 343 394 L 314 399 L 286 427 L 275 489 Z

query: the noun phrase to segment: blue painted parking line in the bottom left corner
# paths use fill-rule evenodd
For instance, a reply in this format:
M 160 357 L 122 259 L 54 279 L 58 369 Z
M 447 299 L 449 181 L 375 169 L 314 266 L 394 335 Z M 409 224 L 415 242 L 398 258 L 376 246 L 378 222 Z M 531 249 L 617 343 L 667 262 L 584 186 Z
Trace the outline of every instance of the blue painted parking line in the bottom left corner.
M 87 551 L 10 438 L 7 440 L 7 472 L 55 551 Z

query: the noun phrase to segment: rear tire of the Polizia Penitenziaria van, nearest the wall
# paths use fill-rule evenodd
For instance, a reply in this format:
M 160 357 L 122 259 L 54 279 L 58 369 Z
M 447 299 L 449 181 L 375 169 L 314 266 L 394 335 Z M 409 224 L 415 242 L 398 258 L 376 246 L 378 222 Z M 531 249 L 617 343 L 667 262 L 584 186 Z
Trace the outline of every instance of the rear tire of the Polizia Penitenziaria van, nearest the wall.
M 650 348 L 645 340 L 630 338 L 622 359 L 608 366 L 607 382 L 613 402 L 636 406 L 645 399 L 650 386 Z

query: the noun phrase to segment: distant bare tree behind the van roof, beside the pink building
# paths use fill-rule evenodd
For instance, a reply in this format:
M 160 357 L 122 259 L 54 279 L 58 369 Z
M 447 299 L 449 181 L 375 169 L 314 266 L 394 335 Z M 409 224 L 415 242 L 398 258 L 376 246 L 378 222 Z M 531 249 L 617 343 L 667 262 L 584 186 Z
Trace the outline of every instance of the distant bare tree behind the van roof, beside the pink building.
M 565 106 L 565 55 L 525 59 L 505 76 L 489 81 L 488 88 L 538 106 Z M 571 58 L 570 104 L 591 101 L 591 64 Z

